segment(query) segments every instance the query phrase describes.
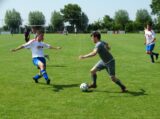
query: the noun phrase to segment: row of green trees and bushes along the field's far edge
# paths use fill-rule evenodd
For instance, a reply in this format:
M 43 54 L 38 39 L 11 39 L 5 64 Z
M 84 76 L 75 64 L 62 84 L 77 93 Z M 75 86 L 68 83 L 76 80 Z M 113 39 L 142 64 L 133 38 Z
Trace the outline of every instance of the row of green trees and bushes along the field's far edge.
M 152 0 L 150 5 L 152 14 L 156 15 L 154 19 L 146 9 L 139 9 L 136 12 L 135 20 L 130 20 L 126 10 L 118 10 L 113 18 L 105 15 L 102 19 L 89 24 L 88 16 L 82 11 L 77 4 L 65 5 L 60 11 L 51 13 L 50 24 L 47 26 L 47 32 L 60 32 L 65 27 L 69 32 L 74 32 L 77 28 L 78 32 L 91 32 L 93 30 L 101 30 L 102 32 L 123 30 L 125 32 L 139 32 L 144 30 L 147 22 L 152 22 L 157 32 L 160 32 L 160 2 Z M 17 33 L 22 25 L 22 18 L 15 9 L 7 10 L 5 14 L 5 26 L 3 30 L 13 30 Z M 28 15 L 29 25 L 45 25 L 45 16 L 40 11 L 32 11 Z M 66 26 L 66 23 L 68 26 Z

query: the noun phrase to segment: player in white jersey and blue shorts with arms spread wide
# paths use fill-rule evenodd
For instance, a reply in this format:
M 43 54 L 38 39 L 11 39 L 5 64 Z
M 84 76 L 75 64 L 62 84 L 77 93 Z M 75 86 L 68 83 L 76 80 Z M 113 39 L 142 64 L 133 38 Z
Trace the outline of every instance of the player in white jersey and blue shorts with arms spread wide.
M 33 80 L 35 83 L 38 83 L 38 79 L 41 78 L 42 76 L 46 80 L 47 84 L 50 84 L 50 79 L 48 77 L 47 71 L 46 71 L 46 60 L 44 58 L 44 53 L 43 50 L 44 48 L 49 48 L 49 49 L 60 49 L 60 47 L 53 47 L 49 44 L 46 44 L 42 42 L 43 40 L 43 34 L 37 34 L 37 37 L 33 40 L 30 40 L 29 42 L 12 49 L 12 52 L 16 52 L 18 50 L 24 49 L 24 48 L 30 48 L 32 52 L 32 61 L 35 66 L 37 66 L 40 69 L 40 74 L 37 74 L 36 76 L 33 77 Z

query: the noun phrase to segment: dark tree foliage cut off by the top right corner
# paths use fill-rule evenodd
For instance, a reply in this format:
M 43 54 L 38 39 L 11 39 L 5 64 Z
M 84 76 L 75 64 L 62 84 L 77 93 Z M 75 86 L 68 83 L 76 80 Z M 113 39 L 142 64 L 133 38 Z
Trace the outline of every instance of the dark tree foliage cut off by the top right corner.
M 157 14 L 160 16 L 160 1 L 159 0 L 152 0 L 150 5 L 153 14 Z

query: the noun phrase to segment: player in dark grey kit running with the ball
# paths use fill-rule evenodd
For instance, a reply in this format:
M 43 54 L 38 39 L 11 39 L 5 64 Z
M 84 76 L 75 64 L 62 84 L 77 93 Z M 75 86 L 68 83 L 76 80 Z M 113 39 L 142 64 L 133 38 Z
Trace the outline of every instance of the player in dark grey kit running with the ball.
M 80 59 L 85 59 L 89 57 L 95 56 L 97 53 L 99 54 L 101 60 L 97 62 L 91 69 L 91 78 L 92 84 L 89 85 L 89 88 L 96 88 L 97 87 L 97 71 L 101 71 L 106 69 L 110 78 L 114 83 L 120 86 L 122 92 L 127 92 L 126 87 L 121 83 L 121 81 L 115 76 L 115 59 L 113 58 L 112 54 L 109 52 L 110 47 L 108 43 L 101 41 L 101 34 L 97 31 L 91 34 L 92 41 L 95 43 L 95 48 L 92 52 L 79 56 Z

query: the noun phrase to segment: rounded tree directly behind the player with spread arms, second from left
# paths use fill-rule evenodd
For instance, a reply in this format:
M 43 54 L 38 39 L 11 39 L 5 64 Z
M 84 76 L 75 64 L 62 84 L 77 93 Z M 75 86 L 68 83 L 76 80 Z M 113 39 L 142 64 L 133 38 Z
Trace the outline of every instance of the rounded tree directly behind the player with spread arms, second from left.
M 30 25 L 44 25 L 45 16 L 42 12 L 34 11 L 29 13 L 29 24 Z

